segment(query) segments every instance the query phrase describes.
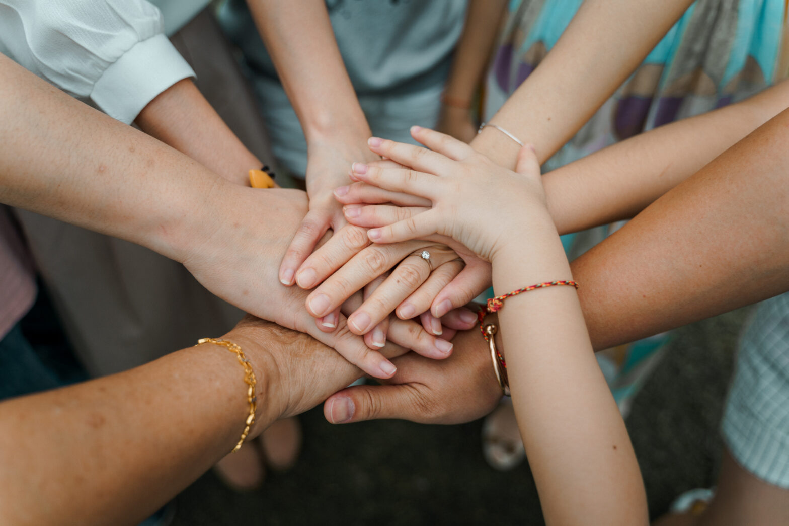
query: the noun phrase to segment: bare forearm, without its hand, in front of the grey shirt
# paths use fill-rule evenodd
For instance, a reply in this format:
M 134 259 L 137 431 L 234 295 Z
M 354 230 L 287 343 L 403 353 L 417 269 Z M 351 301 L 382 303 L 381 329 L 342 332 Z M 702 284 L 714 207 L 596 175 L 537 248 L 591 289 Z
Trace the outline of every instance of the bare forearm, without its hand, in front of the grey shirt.
M 342 62 L 323 0 L 247 3 L 308 146 L 331 142 L 338 136 L 366 141 L 369 126 Z

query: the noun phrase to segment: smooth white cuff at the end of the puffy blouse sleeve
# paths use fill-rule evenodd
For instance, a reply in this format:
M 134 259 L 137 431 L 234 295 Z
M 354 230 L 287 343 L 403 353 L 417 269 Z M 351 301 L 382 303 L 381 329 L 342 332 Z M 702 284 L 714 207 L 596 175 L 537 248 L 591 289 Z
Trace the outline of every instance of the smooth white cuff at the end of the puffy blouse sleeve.
M 104 113 L 131 124 L 167 88 L 195 72 L 164 35 L 143 40 L 121 55 L 96 81 L 91 100 Z

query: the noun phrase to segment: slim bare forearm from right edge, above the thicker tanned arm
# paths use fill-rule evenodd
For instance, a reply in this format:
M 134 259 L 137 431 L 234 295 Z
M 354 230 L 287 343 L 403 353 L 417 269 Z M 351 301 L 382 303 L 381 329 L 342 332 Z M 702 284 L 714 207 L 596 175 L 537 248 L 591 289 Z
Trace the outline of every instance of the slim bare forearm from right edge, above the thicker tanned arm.
M 560 234 L 629 219 L 789 107 L 789 81 L 641 133 L 543 177 Z

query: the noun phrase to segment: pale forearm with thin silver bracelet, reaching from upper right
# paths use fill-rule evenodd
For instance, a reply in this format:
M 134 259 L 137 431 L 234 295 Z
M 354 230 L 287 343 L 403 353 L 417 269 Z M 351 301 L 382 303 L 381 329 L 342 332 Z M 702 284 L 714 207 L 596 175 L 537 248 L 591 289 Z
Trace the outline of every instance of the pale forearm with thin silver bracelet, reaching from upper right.
M 490 120 L 548 160 L 682 16 L 690 0 L 583 2 L 555 47 Z M 514 167 L 518 145 L 486 128 L 474 148 Z

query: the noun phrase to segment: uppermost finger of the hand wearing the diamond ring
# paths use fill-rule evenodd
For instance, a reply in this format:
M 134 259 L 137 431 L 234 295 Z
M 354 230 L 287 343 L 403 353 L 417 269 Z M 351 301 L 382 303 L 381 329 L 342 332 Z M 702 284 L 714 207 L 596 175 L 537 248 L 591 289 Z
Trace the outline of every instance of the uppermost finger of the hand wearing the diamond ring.
M 335 230 L 335 235 L 310 254 L 298 269 L 296 283 L 303 289 L 317 287 L 369 244 L 363 227 L 348 225 Z

